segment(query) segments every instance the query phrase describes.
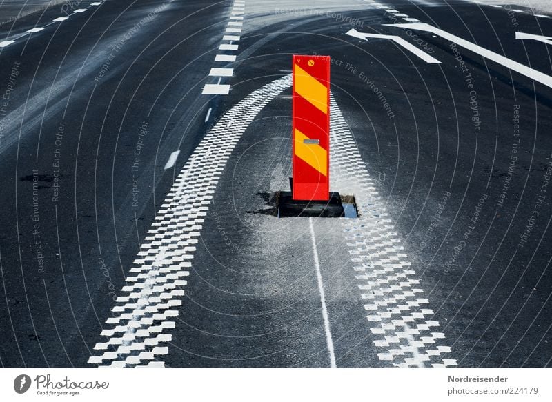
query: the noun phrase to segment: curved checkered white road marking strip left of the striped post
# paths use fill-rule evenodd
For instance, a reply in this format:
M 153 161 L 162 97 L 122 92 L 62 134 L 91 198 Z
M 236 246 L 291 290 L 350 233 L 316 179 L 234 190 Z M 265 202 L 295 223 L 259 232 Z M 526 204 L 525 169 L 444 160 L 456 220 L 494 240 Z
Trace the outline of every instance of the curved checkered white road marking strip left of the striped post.
M 164 367 L 204 219 L 237 142 L 257 114 L 291 86 L 287 75 L 239 101 L 213 126 L 182 168 L 140 246 L 88 363 Z M 196 267 L 196 269 L 200 269 Z M 157 361 L 153 361 L 157 360 Z

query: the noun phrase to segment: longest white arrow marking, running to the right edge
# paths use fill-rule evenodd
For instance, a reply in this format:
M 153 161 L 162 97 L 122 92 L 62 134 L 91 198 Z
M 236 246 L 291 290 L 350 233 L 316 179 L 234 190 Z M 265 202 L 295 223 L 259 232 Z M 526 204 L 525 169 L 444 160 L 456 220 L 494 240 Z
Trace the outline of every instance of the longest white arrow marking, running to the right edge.
M 513 61 L 512 59 L 509 59 L 508 57 L 504 57 L 498 53 L 491 52 L 491 50 L 482 48 L 481 46 L 476 45 L 475 43 L 471 43 L 470 41 L 466 41 L 465 39 L 457 37 L 453 34 L 449 34 L 449 32 L 440 30 L 439 28 L 431 26 L 428 23 L 391 23 L 391 24 L 385 24 L 385 25 L 394 26 L 397 28 L 410 28 L 413 30 L 431 32 L 439 37 L 442 37 L 443 39 L 456 43 L 458 46 L 462 46 L 462 48 L 466 48 L 468 50 L 471 50 L 472 52 L 481 54 L 486 59 L 495 61 L 495 63 L 502 64 L 502 66 L 509 68 L 510 70 L 519 72 L 525 77 L 529 77 L 534 81 L 538 81 L 544 84 L 545 86 L 552 88 L 552 77 L 550 77 L 549 75 L 546 75 L 543 72 L 540 72 L 533 68 L 527 67 L 522 63 L 517 63 L 517 61 Z

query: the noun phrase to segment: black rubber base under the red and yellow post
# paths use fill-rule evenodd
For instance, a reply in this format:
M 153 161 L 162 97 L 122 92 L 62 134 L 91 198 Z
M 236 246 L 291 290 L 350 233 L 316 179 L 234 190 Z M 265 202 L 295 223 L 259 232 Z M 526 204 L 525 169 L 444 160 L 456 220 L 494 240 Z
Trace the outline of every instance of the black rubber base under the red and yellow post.
M 328 201 L 297 201 L 290 191 L 282 191 L 278 197 L 278 216 L 340 218 L 345 212 L 339 192 L 330 192 Z

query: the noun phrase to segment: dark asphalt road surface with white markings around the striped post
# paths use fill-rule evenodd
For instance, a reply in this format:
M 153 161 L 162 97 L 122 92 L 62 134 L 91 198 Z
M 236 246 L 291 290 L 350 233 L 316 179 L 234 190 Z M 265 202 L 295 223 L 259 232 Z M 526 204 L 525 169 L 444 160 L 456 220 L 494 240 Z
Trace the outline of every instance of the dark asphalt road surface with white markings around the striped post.
M 3 24 L 0 364 L 550 367 L 534 12 L 83 0 Z M 276 216 L 292 54 L 332 58 L 357 218 Z

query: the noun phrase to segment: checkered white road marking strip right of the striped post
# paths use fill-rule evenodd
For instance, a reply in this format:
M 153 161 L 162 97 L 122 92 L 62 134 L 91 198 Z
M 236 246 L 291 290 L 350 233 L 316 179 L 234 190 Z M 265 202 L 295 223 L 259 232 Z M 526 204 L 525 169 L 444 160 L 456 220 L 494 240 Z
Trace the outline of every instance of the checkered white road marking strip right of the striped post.
M 454 359 L 443 359 L 451 348 L 442 345 L 440 324 L 426 319 L 433 310 L 424 308 L 429 301 L 420 298 L 420 281 L 411 279 L 416 272 L 333 94 L 330 110 L 330 187 L 357 200 L 359 218 L 341 220 L 373 342 L 382 350 L 378 359 L 395 367 L 455 366 Z

